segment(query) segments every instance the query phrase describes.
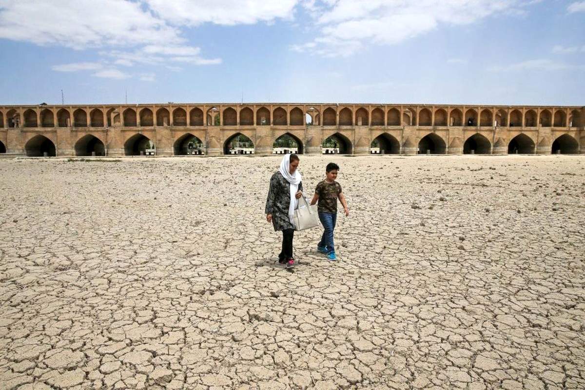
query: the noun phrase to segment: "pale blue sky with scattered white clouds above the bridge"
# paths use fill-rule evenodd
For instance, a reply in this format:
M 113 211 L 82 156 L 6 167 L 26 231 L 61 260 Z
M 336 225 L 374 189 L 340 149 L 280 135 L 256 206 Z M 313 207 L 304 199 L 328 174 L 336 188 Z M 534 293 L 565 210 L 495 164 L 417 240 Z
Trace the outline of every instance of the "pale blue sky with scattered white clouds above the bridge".
M 585 1 L 0 0 L 0 104 L 585 105 Z

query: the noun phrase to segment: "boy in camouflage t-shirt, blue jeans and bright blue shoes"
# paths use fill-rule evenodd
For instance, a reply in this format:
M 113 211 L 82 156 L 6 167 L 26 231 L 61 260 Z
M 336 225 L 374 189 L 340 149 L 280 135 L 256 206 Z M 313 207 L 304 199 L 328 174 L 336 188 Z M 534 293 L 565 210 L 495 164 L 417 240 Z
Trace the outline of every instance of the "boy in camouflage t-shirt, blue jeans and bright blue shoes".
M 323 236 L 321 236 L 321 241 L 317 244 L 317 250 L 325 253 L 331 261 L 337 260 L 335 246 L 333 245 L 333 229 L 335 229 L 335 221 L 337 220 L 337 199 L 341 202 L 345 215 L 349 216 L 345 196 L 341 192 L 341 186 L 335 181 L 338 170 L 339 166 L 337 164 L 327 164 L 325 168 L 325 180 L 317 184 L 315 196 L 313 196 L 311 201 L 311 205 L 319 201 L 317 211 L 319 213 L 319 220 L 321 220 L 325 229 Z

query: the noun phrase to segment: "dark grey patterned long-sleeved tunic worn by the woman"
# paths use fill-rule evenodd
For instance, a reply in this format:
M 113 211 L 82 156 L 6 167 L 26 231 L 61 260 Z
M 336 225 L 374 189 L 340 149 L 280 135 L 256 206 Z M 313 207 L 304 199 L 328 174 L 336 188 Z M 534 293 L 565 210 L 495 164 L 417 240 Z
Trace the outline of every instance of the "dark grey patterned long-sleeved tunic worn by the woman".
M 298 184 L 298 191 L 302 191 L 302 182 Z M 280 172 L 276 172 L 270 178 L 270 189 L 264 210 L 264 213 L 272 214 L 274 230 L 294 229 L 294 225 L 288 219 L 290 204 L 290 184 Z

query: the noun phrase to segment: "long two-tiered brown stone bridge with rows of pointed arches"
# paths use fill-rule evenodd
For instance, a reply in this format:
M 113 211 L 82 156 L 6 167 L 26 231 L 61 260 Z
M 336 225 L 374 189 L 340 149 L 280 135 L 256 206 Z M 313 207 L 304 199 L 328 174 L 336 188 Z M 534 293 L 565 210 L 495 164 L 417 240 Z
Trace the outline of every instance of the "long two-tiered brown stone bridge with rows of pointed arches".
M 159 156 L 229 153 L 243 134 L 271 154 L 288 134 L 298 153 L 319 154 L 332 137 L 339 153 L 585 153 L 583 106 L 201 103 L 0 106 L 0 153 L 133 156 L 153 141 Z

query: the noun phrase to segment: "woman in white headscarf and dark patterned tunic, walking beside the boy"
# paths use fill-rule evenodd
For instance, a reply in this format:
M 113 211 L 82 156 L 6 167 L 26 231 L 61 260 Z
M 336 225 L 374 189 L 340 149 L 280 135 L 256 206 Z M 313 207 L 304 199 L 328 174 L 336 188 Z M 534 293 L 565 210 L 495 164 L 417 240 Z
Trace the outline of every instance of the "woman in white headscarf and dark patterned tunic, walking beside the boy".
M 283 249 L 278 255 L 278 264 L 294 267 L 292 216 L 302 195 L 301 173 L 297 171 L 299 159 L 296 154 L 285 154 L 280 169 L 270 178 L 270 189 L 266 199 L 266 220 L 272 222 L 274 231 L 283 232 Z

